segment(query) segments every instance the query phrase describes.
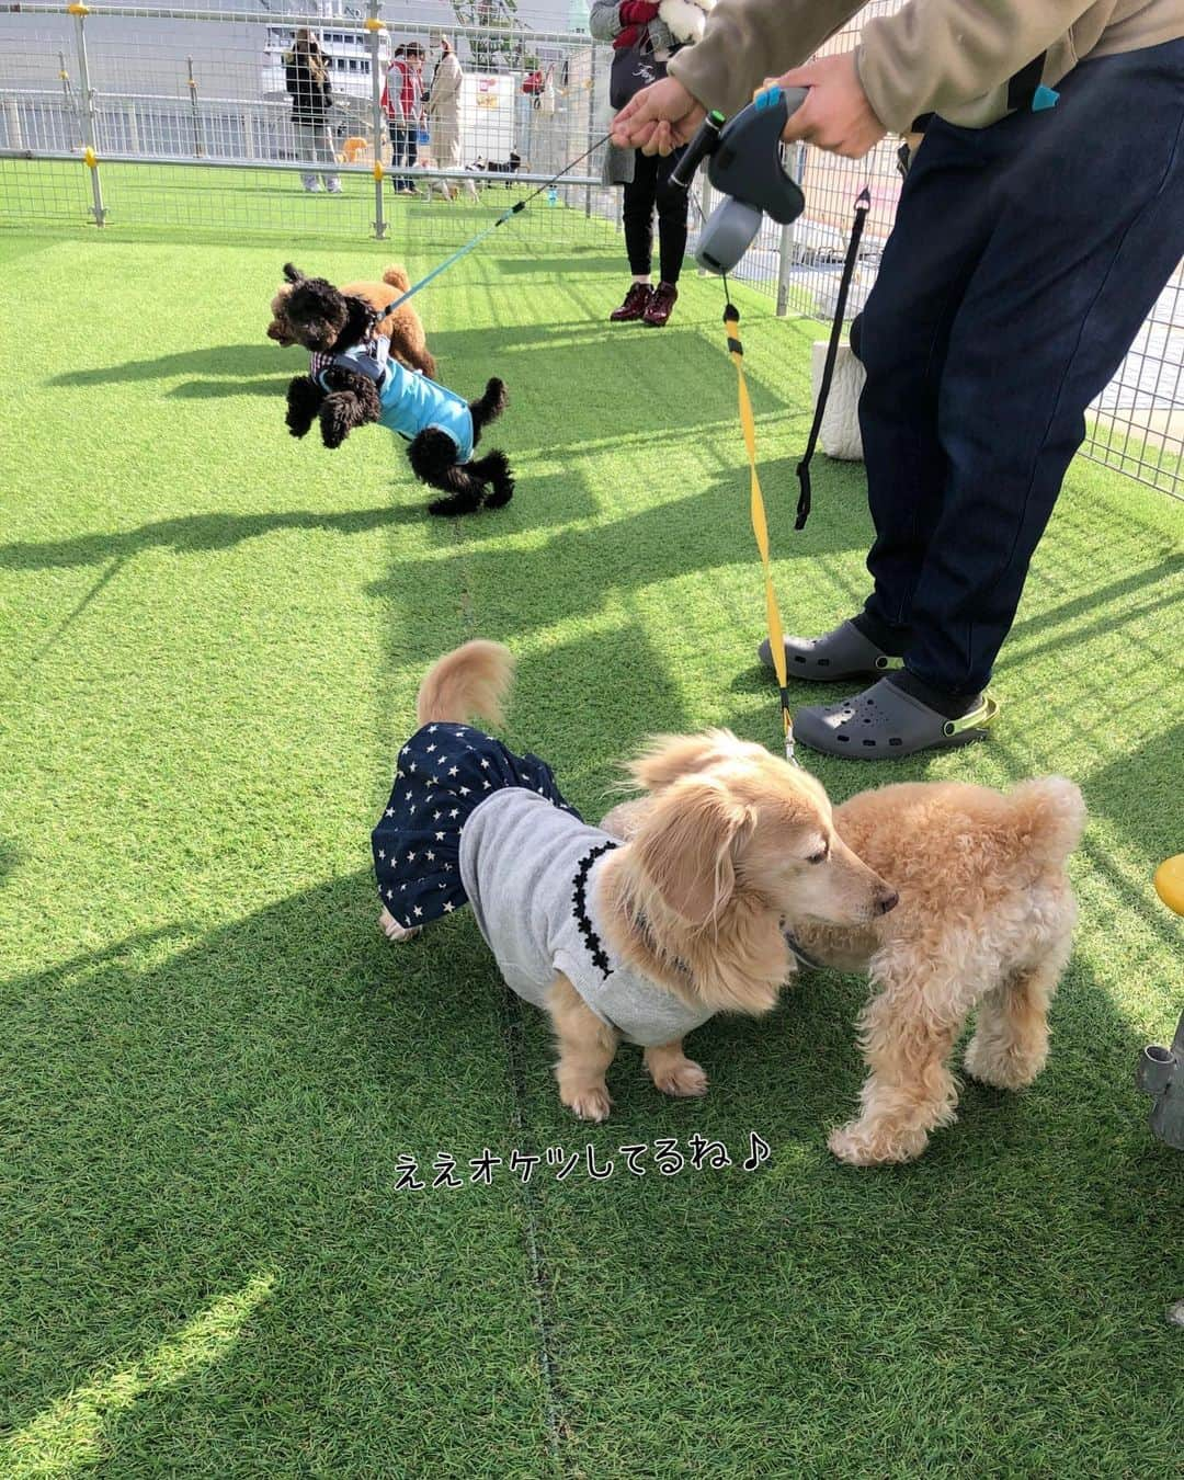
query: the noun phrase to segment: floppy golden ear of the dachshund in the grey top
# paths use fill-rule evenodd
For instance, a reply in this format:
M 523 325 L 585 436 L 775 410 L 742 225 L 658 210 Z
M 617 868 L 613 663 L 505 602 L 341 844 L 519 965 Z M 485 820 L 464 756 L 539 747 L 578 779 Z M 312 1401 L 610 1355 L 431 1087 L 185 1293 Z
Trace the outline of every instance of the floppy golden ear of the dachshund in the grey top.
M 715 919 L 736 888 L 736 851 L 752 810 L 724 786 L 685 777 L 666 790 L 630 844 L 644 882 L 688 925 Z

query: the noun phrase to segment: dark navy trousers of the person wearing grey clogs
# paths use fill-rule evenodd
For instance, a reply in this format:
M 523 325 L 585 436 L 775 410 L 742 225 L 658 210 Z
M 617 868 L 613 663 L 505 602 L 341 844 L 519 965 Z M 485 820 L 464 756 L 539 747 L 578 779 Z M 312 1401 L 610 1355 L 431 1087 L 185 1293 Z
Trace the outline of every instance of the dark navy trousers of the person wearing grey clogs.
M 1060 93 L 931 124 L 863 315 L 864 622 L 950 694 L 986 687 L 1085 410 L 1184 255 L 1184 40 Z

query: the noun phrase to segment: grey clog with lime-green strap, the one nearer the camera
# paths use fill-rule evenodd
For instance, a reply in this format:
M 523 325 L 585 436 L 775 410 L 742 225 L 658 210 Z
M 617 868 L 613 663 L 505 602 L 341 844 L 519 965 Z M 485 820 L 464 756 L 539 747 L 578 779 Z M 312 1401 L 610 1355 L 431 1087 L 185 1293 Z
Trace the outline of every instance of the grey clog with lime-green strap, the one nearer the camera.
M 999 713 L 984 694 L 961 719 L 947 719 L 882 678 L 863 694 L 838 704 L 799 709 L 793 734 L 811 750 L 851 761 L 889 761 L 918 750 L 949 750 L 983 740 Z

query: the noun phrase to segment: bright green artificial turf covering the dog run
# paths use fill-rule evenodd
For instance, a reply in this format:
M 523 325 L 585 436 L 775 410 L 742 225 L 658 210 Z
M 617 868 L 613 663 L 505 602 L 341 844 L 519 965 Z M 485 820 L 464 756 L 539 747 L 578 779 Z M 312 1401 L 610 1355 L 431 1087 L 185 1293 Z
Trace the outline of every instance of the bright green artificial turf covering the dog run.
M 864 983 L 817 974 L 696 1035 L 703 1103 L 623 1051 L 589 1129 L 471 916 L 379 937 L 369 829 L 425 666 L 477 633 L 521 662 L 506 739 L 592 817 L 647 731 L 776 744 L 718 286 L 662 334 L 604 323 L 614 246 L 431 289 L 443 376 L 511 386 L 519 475 L 448 524 L 385 434 L 286 435 L 284 255 L 0 235 L 0 1474 L 1171 1473 L 1184 1159 L 1132 1064 L 1181 998 L 1150 888 L 1181 848 L 1178 508 L 1074 465 L 995 739 L 891 773 L 1085 789 L 1033 1089 L 968 1086 L 913 1166 L 836 1165 Z M 403 255 L 432 260 L 297 260 Z M 861 469 L 823 462 L 792 531 L 811 329 L 743 306 L 777 588 L 818 630 L 863 593 Z M 811 764 L 836 798 L 888 778 Z M 694 1131 L 736 1165 L 625 1171 Z M 395 1190 L 401 1153 L 588 1146 L 607 1181 Z

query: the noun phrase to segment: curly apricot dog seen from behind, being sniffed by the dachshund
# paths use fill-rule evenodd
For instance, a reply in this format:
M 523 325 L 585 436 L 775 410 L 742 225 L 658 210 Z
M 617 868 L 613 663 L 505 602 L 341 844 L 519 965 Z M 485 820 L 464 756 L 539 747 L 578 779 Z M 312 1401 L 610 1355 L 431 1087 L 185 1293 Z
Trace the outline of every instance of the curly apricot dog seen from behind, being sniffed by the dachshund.
M 629 836 L 650 801 L 604 826 Z M 835 836 L 900 892 L 891 915 L 820 925 L 790 894 L 786 926 L 818 965 L 866 971 L 860 1114 L 830 1135 L 845 1162 L 907 1162 L 955 1120 L 949 1060 L 972 1011 L 966 1073 L 1023 1089 L 1048 1057 L 1048 1003 L 1069 961 L 1076 906 L 1066 860 L 1085 823 L 1063 777 L 1000 793 L 956 781 L 884 786 L 835 808 Z

